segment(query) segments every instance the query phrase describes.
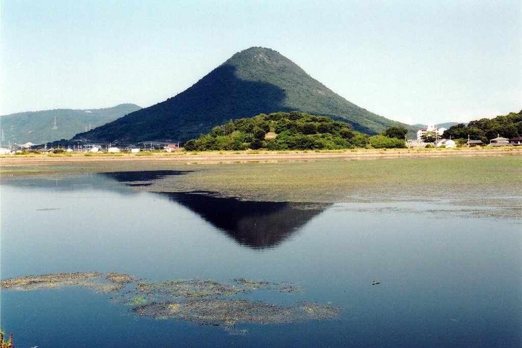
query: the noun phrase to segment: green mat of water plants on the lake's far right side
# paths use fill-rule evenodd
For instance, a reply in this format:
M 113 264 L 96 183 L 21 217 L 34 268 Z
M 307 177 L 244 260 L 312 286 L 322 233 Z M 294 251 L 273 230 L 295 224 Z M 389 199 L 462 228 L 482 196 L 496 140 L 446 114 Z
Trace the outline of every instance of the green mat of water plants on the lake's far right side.
M 356 199 L 522 196 L 522 157 L 442 157 L 196 165 L 157 180 L 150 191 L 217 192 L 245 200 L 345 202 Z

